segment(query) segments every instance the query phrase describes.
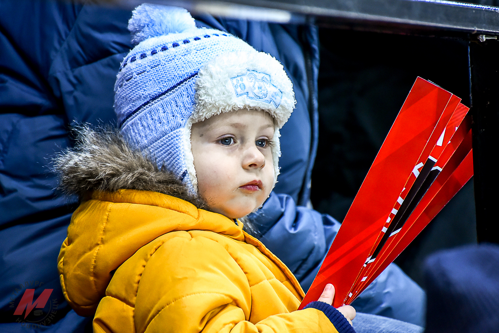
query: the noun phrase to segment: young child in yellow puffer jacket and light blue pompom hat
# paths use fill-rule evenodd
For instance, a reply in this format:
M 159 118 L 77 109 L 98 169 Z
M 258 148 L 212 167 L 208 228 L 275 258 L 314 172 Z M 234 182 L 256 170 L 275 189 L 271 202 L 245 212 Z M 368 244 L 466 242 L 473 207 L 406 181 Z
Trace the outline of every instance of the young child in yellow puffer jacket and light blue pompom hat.
M 243 231 L 278 174 L 292 84 L 266 53 L 184 9 L 143 4 L 115 85 L 119 133 L 83 129 L 61 156 L 81 198 L 58 259 L 94 332 L 354 332 L 352 307 L 304 293 Z

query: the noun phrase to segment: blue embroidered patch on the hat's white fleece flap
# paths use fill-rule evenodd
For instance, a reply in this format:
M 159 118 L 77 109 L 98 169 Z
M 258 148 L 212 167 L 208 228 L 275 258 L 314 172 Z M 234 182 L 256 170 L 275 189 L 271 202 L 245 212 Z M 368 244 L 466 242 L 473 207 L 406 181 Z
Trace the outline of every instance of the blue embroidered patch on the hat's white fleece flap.
M 244 75 L 231 77 L 232 86 L 237 97 L 246 95 L 247 98 L 272 103 L 277 108 L 282 99 L 280 91 L 270 81 L 270 75 L 249 70 Z

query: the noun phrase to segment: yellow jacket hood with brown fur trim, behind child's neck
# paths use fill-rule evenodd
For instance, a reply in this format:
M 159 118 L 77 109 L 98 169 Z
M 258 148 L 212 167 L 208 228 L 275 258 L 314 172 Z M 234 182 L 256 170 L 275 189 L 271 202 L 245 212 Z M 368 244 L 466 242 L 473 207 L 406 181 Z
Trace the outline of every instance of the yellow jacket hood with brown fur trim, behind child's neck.
M 81 316 L 95 313 L 118 267 L 164 234 L 208 230 L 245 239 L 242 223 L 200 209 L 203 200 L 111 130 L 80 129 L 76 147 L 55 166 L 60 188 L 81 200 L 58 258 L 64 297 Z

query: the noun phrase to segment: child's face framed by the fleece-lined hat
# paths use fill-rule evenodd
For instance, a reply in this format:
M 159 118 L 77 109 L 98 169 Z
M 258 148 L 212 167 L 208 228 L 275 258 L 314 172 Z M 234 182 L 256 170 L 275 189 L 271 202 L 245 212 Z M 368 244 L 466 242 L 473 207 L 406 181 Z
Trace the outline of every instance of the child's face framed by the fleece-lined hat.
M 274 181 L 273 136 L 264 111 L 225 112 L 192 125 L 198 192 L 211 211 L 236 219 L 263 204 Z

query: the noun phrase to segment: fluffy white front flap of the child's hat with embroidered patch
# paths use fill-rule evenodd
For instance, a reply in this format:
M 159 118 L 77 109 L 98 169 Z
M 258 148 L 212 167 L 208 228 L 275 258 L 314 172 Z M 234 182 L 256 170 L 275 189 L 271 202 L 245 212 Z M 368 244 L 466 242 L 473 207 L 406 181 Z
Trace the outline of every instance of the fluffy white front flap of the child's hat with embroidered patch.
M 195 100 L 193 123 L 247 108 L 270 113 L 278 128 L 296 103 L 293 84 L 280 62 L 257 51 L 228 52 L 208 61 L 198 73 Z

